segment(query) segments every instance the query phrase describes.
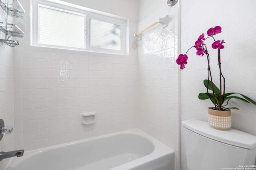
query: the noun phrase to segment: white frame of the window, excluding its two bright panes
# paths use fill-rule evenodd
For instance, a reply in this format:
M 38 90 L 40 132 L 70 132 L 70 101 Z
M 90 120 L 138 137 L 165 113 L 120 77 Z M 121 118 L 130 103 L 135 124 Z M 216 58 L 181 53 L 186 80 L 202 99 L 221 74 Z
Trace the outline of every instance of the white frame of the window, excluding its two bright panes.
M 57 45 L 46 45 L 38 43 L 39 39 L 39 6 L 44 8 L 50 8 L 53 10 L 59 10 L 62 12 L 68 12 L 71 14 L 76 14 L 84 16 L 84 48 L 75 48 L 75 47 L 66 47 L 66 46 L 57 46 Z M 75 4 L 70 4 L 68 2 L 63 2 L 59 0 L 32 0 L 31 8 L 31 36 L 30 36 L 30 45 L 35 47 L 48 47 L 48 48 L 57 48 L 57 49 L 68 49 L 68 50 L 79 50 L 79 51 L 88 51 L 96 53 L 108 53 L 108 54 L 118 54 L 126 55 L 126 34 L 127 34 L 127 19 L 118 17 L 112 14 L 107 14 L 105 12 L 100 12 L 97 10 L 92 10 Z M 90 35 L 90 19 L 104 21 L 121 26 L 121 49 L 110 50 L 102 49 L 96 47 L 89 47 L 89 35 Z

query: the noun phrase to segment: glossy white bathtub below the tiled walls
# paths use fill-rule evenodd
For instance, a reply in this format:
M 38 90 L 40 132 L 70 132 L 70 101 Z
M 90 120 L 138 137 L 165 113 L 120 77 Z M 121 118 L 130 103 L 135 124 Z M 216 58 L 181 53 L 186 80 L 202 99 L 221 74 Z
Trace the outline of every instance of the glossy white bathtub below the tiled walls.
M 24 152 L 5 170 L 174 170 L 174 151 L 139 129 Z

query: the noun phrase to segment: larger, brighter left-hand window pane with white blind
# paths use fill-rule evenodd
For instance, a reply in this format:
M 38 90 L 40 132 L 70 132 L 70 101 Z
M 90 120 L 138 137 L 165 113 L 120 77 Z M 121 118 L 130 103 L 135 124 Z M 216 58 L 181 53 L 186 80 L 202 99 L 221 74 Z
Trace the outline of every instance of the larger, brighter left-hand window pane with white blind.
M 39 6 L 38 43 L 85 48 L 84 16 Z

